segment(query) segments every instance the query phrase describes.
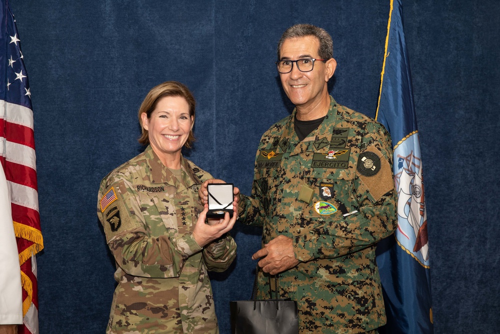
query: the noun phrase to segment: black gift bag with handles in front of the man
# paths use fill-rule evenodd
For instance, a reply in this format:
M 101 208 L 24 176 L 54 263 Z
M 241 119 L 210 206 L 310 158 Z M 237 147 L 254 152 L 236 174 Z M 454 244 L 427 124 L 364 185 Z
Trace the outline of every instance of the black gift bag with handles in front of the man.
M 251 300 L 229 301 L 232 334 L 298 334 L 297 302 L 290 299 L 278 299 L 277 277 L 275 296 L 272 299 L 255 300 L 257 272 L 253 282 Z

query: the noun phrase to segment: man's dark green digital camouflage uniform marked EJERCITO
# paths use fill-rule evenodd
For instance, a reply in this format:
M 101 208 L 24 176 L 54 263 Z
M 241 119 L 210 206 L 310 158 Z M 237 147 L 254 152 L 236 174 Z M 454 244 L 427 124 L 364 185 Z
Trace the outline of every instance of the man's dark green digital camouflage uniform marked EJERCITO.
M 385 323 L 375 247 L 397 224 L 390 136 L 330 101 L 303 141 L 296 110 L 262 135 L 252 194 L 240 197 L 239 220 L 263 226 L 262 245 L 280 234 L 293 239 L 301 262 L 278 275 L 278 289 L 297 301 L 300 333 L 359 333 Z M 268 291 L 259 271 L 258 296 Z

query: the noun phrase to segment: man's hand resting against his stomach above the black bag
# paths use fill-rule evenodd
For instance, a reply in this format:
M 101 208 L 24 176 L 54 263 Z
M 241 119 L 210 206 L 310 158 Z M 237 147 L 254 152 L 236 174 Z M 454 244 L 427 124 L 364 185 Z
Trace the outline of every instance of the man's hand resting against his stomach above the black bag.
M 253 260 L 260 257 L 258 266 L 271 275 L 293 268 L 300 262 L 293 253 L 293 240 L 284 235 L 278 235 L 251 256 Z

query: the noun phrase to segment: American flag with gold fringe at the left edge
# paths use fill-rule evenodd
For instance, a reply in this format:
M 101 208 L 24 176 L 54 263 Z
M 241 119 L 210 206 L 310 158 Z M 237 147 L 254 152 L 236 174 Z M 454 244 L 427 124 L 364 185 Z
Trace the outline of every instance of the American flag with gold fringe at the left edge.
M 10 192 L 12 220 L 21 265 L 23 325 L 18 333 L 38 334 L 35 254 L 43 249 L 31 93 L 20 41 L 8 0 L 0 12 L 0 162 Z

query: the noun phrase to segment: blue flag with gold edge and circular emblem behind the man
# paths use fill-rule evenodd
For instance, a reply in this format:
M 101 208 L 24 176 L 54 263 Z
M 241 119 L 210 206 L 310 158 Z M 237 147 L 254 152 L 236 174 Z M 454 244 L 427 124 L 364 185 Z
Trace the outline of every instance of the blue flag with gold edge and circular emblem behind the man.
M 400 0 L 390 1 L 375 116 L 389 131 L 397 190 L 397 229 L 377 247 L 387 324 L 381 333 L 433 333 L 422 161 Z

